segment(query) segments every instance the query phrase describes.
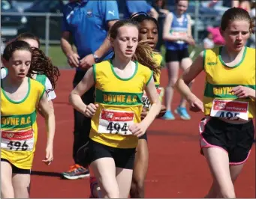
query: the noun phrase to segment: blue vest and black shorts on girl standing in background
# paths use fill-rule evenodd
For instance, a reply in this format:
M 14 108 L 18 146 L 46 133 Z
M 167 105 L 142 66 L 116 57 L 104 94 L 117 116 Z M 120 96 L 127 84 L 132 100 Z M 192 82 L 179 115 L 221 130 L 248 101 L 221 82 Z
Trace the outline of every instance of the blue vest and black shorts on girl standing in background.
M 183 13 L 181 21 L 178 20 L 176 13 L 173 14 L 173 22 L 170 27 L 170 34 L 172 35 L 186 35 L 188 34 L 188 14 Z M 183 58 L 188 58 L 188 43 L 183 40 L 165 41 L 167 49 L 165 54 L 165 61 L 182 61 Z

